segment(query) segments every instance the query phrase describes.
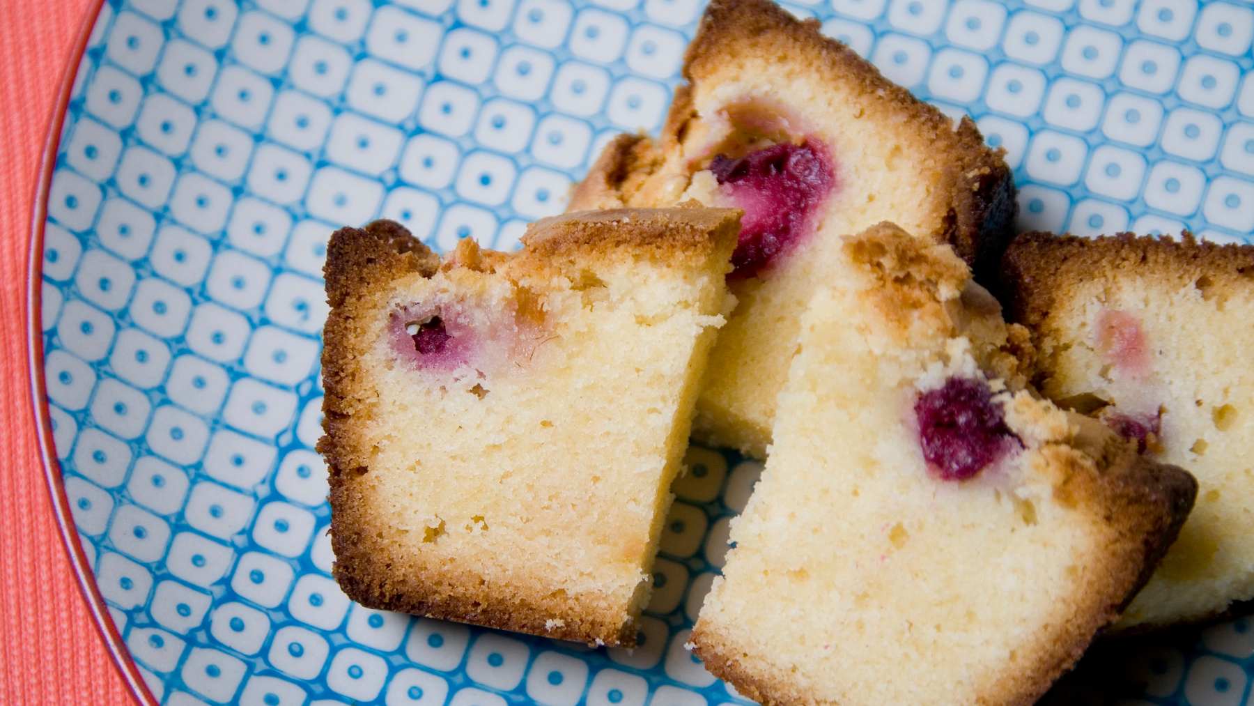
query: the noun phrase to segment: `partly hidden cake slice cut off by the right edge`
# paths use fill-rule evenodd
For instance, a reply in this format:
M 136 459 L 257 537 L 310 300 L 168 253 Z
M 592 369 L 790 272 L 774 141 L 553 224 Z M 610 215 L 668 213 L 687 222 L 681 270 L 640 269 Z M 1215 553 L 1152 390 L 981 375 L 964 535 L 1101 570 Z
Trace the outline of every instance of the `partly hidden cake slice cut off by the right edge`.
M 1038 385 L 1198 477 L 1198 507 L 1121 627 L 1254 598 L 1254 246 L 1026 233 L 1004 291 Z

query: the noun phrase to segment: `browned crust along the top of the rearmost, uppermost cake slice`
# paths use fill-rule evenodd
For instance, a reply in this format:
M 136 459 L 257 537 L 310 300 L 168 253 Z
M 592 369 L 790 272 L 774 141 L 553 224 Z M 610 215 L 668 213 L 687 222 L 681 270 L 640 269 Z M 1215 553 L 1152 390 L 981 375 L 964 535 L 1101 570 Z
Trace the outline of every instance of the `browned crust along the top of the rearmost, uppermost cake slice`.
M 624 135 L 609 143 L 571 201 L 572 209 L 630 204 L 641 182 L 657 171 L 665 154 L 678 149 L 696 115 L 692 85 L 712 80 L 719 66 L 735 56 L 760 56 L 764 63 L 805 60 L 821 80 L 850 87 L 869 100 L 895 107 L 900 122 L 947 155 L 942 191 L 948 211 L 943 232 L 977 280 L 997 265 L 1017 209 L 1014 183 L 1002 150 L 989 149 L 976 124 L 963 118 L 957 127 L 934 107 L 885 79 L 875 66 L 844 44 L 819 33 L 816 21 L 801 21 L 770 0 L 714 0 L 683 60 L 687 85 L 676 90 L 657 142 Z M 770 74 L 767 70 L 766 74 Z

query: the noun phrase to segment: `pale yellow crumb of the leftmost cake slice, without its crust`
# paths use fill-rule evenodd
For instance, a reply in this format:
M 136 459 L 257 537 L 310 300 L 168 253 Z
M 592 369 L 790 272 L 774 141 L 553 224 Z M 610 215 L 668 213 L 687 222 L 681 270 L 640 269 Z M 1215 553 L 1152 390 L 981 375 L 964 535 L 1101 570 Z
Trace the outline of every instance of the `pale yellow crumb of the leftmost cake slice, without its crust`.
M 362 369 L 377 404 L 360 425 L 374 453 L 356 483 L 393 576 L 466 604 L 549 607 L 551 627 L 638 614 L 697 380 L 730 306 L 727 248 L 710 250 L 697 263 L 622 248 L 564 272 L 456 267 L 390 285 L 396 306 L 453 302 L 489 319 L 523 308 L 534 320 L 515 332 L 520 354 L 480 374 L 433 372 L 399 362 L 384 334 L 394 306 L 375 311 Z

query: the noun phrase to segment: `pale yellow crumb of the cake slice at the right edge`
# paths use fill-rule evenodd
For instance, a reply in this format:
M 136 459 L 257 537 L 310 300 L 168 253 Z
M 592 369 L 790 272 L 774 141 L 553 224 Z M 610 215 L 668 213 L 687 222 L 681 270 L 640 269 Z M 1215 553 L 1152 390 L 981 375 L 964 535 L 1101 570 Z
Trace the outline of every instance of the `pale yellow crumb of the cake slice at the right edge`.
M 1254 597 L 1254 288 L 1165 285 L 1132 268 L 1073 287 L 1056 297 L 1041 337 L 1043 391 L 1096 395 L 1136 415 L 1161 410 L 1151 456 L 1200 484 L 1180 538 L 1121 627 L 1199 619 Z M 1106 311 L 1139 322 L 1149 375 L 1130 377 L 1099 350 L 1095 325 Z

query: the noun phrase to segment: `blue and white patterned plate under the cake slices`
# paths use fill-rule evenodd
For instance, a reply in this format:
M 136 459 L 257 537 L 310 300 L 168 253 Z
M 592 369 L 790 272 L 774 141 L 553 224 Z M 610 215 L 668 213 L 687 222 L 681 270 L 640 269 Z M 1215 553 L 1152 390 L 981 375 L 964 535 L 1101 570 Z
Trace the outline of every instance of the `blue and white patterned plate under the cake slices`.
M 33 342 L 66 535 L 142 698 L 742 701 L 683 643 L 757 464 L 692 451 L 626 652 L 350 603 L 312 451 L 327 234 L 389 217 L 439 250 L 513 247 L 606 139 L 660 127 L 700 5 L 103 4 L 53 140 Z M 973 115 L 1008 152 L 1025 228 L 1254 229 L 1246 5 L 790 8 Z M 1254 673 L 1244 618 L 1097 652 L 1058 702 L 1239 703 Z

